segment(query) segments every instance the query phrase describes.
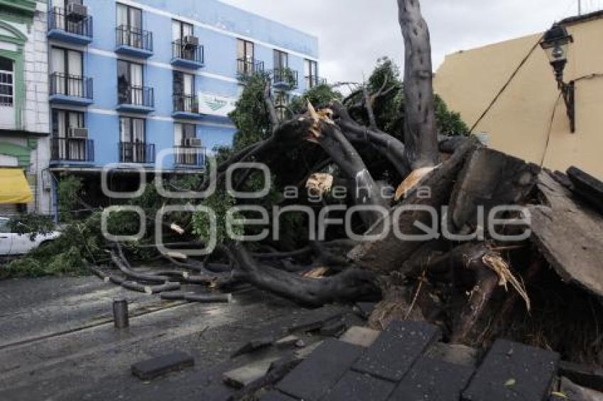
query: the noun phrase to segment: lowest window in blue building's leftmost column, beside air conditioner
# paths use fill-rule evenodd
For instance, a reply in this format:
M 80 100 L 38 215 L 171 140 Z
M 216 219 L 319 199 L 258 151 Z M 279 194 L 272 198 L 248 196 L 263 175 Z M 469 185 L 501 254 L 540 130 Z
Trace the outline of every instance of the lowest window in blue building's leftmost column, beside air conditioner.
M 84 113 L 52 110 L 52 159 L 87 159 L 86 138 L 71 137 L 70 128 L 84 128 Z

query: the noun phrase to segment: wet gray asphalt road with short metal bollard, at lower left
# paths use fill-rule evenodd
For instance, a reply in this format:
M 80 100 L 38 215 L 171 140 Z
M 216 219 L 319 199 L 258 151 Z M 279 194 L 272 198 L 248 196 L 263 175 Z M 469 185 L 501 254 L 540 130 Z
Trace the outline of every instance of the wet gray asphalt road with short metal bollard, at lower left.
M 117 295 L 142 313 L 125 331 L 110 320 Z M 96 277 L 1 281 L 0 400 L 212 400 L 228 392 L 221 372 L 247 362 L 232 361 L 234 350 L 307 313 L 255 290 L 230 304 L 179 305 Z M 131 375 L 131 364 L 176 350 L 194 368 L 150 383 Z

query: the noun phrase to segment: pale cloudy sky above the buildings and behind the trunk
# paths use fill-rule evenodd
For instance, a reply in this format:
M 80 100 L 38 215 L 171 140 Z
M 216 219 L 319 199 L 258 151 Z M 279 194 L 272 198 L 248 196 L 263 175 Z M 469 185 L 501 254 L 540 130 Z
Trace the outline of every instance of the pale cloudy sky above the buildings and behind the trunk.
M 377 58 L 403 65 L 396 0 L 222 0 L 319 38 L 319 75 L 361 82 Z M 445 55 L 547 30 L 577 14 L 578 0 L 422 0 L 434 71 Z M 582 11 L 603 0 L 582 0 Z

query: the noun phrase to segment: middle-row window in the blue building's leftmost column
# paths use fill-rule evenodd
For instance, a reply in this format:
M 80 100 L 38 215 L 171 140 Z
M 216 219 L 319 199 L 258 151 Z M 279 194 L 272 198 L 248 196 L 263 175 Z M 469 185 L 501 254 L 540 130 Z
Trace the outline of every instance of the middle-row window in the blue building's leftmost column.
M 82 52 L 52 47 L 50 50 L 50 93 L 84 97 Z

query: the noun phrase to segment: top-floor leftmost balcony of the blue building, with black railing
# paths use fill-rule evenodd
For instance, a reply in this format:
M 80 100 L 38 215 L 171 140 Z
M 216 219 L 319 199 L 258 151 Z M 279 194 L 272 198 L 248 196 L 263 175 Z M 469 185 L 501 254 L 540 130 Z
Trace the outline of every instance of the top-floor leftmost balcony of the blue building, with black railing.
M 68 14 L 65 9 L 52 7 L 48 13 L 48 38 L 88 45 L 92 42 L 92 16 Z

